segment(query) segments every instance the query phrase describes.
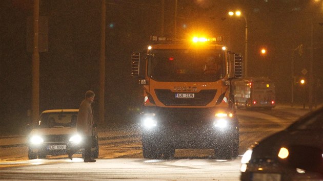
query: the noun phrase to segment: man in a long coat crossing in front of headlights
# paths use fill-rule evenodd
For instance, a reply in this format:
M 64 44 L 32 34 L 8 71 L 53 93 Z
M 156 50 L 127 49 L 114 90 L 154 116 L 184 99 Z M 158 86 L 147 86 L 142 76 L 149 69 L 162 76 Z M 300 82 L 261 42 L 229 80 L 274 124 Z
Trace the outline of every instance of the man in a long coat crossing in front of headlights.
M 84 162 L 96 162 L 91 158 L 91 147 L 93 137 L 93 109 L 91 104 L 94 102 L 95 94 L 92 90 L 88 90 L 85 93 L 85 99 L 79 105 L 76 130 L 82 135 L 82 142 L 78 146 L 72 147 L 68 150 L 68 157 L 72 160 L 73 154 L 80 148 L 84 147 Z

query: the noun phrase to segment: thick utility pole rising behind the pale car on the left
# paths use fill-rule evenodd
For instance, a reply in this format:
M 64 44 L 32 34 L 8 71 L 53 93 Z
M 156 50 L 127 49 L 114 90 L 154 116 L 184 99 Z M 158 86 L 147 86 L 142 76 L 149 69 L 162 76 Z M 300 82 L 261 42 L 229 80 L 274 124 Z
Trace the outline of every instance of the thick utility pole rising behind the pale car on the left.
M 34 14 L 33 14 L 33 53 L 32 53 L 32 123 L 34 123 L 39 116 L 39 0 L 34 0 Z

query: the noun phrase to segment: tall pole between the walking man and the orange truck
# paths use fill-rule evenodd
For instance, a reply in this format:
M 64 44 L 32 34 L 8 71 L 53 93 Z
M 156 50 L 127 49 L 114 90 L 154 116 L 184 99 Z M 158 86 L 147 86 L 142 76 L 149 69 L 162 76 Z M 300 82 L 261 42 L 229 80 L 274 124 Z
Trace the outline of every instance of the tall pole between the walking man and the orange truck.
M 101 49 L 99 62 L 99 123 L 104 123 L 104 100 L 105 100 L 105 62 L 106 62 L 106 0 L 102 0 L 101 8 Z

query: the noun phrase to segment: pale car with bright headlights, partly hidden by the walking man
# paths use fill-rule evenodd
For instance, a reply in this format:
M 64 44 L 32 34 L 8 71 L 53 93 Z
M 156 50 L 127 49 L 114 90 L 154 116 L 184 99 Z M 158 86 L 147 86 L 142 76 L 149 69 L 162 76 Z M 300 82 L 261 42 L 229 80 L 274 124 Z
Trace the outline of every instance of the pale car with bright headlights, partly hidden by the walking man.
M 82 144 L 82 135 L 76 131 L 78 109 L 53 109 L 42 112 L 37 125 L 28 137 L 28 159 L 45 159 L 47 155 L 67 154 L 76 144 Z M 82 149 L 78 153 L 82 153 Z M 98 135 L 94 129 L 92 158 L 98 157 Z M 83 154 L 83 153 L 82 153 Z

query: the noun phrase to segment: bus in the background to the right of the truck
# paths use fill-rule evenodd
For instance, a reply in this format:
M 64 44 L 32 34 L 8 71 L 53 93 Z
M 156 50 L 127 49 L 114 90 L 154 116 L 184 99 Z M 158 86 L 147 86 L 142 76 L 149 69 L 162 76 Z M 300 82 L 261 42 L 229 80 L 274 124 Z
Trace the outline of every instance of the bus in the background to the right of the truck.
M 276 106 L 275 85 L 268 77 L 237 79 L 233 82 L 237 108 L 266 108 Z

